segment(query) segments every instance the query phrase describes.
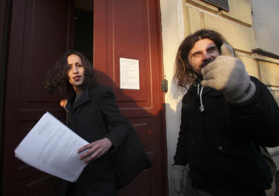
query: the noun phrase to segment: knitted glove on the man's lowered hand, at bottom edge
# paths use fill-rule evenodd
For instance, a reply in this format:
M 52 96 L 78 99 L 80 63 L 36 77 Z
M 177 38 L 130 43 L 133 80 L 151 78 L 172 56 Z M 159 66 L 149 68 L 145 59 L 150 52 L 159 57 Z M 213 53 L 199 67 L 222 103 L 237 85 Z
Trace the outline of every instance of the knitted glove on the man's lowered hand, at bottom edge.
M 183 196 L 185 193 L 185 186 L 183 184 L 183 177 L 185 166 L 174 165 L 171 172 L 171 190 L 175 196 Z

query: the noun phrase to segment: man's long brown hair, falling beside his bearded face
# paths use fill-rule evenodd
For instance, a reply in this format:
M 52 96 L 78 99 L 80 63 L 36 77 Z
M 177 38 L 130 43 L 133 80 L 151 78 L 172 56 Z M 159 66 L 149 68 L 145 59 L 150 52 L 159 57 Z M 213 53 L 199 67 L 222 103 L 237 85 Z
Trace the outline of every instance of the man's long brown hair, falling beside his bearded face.
M 223 42 L 227 42 L 223 35 L 209 29 L 201 29 L 187 36 L 183 42 L 181 42 L 176 55 L 173 79 L 177 86 L 187 89 L 187 84 L 196 80 L 196 75 L 193 70 L 188 69 L 186 66 L 189 65 L 188 54 L 198 40 L 206 38 L 211 39 L 215 43 L 220 54 Z M 235 56 L 237 57 L 236 54 Z

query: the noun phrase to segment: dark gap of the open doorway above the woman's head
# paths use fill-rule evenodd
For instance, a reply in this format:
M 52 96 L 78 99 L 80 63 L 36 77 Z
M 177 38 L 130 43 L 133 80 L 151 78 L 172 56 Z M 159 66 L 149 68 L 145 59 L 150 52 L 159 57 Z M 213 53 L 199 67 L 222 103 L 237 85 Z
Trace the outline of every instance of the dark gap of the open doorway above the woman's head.
M 93 1 L 75 1 L 74 51 L 93 63 Z

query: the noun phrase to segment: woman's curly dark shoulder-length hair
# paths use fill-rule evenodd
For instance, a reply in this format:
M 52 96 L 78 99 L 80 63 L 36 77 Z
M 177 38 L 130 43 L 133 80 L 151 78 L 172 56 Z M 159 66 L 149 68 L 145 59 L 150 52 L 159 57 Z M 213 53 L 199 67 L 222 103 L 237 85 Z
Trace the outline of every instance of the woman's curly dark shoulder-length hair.
M 69 98 L 74 96 L 73 85 L 69 83 L 68 71 L 68 56 L 75 54 L 81 58 L 84 67 L 84 82 L 81 86 L 81 90 L 85 90 L 87 87 L 93 87 L 99 84 L 99 77 L 97 77 L 93 65 L 87 58 L 76 51 L 70 51 L 60 56 L 53 68 L 47 74 L 47 80 L 45 81 L 44 89 L 48 94 L 52 94 L 55 90 L 60 91 L 63 98 Z

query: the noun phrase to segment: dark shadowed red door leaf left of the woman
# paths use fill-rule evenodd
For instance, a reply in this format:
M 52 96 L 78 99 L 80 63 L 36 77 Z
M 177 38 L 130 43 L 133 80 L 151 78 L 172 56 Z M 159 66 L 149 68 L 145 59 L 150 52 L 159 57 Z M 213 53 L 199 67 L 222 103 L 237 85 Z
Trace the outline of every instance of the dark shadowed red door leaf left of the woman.
M 4 100 L 2 195 L 59 195 L 60 179 L 15 158 L 14 150 L 49 111 L 63 120 L 58 95 L 47 96 L 43 81 L 71 42 L 71 0 L 13 0 Z

